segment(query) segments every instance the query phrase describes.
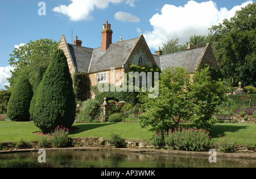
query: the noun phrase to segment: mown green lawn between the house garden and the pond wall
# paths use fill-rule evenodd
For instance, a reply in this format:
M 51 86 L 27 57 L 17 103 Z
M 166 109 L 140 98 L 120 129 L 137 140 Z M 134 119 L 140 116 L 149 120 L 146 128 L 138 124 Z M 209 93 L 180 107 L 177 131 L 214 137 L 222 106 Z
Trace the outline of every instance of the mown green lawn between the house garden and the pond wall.
M 188 126 L 188 125 L 187 125 Z M 79 127 L 70 137 L 105 137 L 117 133 L 126 139 L 147 140 L 152 137 L 152 131 L 141 129 L 138 123 L 75 123 Z M 39 131 L 34 122 L 0 122 L 0 142 L 18 142 L 38 138 L 33 132 Z M 245 144 L 246 139 L 256 144 L 256 124 L 254 123 L 217 123 L 212 126 L 210 136 L 218 139 L 218 134 L 228 135 L 230 142 Z

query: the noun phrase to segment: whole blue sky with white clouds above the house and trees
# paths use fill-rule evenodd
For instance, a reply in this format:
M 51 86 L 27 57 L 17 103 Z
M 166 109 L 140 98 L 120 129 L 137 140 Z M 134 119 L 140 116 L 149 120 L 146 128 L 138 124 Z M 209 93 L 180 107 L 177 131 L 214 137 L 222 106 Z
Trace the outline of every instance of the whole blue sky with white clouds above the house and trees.
M 46 15 L 39 15 L 39 2 L 46 5 Z M 207 35 L 208 28 L 230 18 L 236 10 L 253 0 L 1 0 L 0 1 L 0 88 L 10 76 L 10 54 L 14 47 L 30 40 L 68 43 L 77 35 L 82 46 L 101 44 L 102 24 L 109 21 L 113 42 L 132 39 L 143 33 L 151 52 L 168 39 Z M 42 12 L 42 11 L 41 11 Z

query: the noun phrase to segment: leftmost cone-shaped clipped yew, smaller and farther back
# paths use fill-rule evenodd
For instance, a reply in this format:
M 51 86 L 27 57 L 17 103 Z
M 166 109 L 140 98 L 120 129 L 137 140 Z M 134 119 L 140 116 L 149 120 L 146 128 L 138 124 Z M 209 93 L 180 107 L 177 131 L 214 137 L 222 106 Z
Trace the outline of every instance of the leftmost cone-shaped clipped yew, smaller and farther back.
M 12 121 L 30 120 L 30 101 L 33 96 L 32 87 L 26 76 L 21 76 L 15 85 L 7 106 L 7 115 Z

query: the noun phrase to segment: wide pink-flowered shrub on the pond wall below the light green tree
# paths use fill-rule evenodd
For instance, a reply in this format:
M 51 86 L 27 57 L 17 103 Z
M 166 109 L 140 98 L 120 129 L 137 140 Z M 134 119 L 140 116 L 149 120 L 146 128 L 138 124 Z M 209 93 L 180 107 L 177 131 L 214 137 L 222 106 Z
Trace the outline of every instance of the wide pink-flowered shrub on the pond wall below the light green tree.
M 164 135 L 164 140 L 171 149 L 176 150 L 207 151 L 213 146 L 205 129 L 175 128 Z

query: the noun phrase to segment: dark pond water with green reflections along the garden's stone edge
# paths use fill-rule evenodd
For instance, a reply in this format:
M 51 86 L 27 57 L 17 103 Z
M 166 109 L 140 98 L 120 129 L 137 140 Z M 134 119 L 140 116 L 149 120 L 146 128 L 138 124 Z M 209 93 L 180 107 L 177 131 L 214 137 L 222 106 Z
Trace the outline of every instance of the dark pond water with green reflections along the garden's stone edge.
M 255 159 L 217 157 L 209 163 L 208 156 L 140 154 L 126 151 L 46 151 L 46 163 L 38 163 L 38 152 L 0 154 L 1 168 L 243 168 L 256 167 Z

